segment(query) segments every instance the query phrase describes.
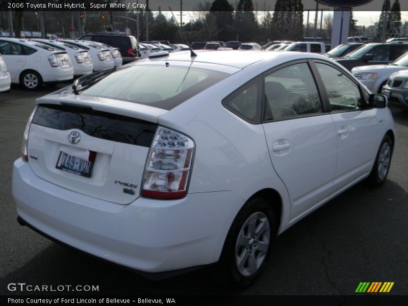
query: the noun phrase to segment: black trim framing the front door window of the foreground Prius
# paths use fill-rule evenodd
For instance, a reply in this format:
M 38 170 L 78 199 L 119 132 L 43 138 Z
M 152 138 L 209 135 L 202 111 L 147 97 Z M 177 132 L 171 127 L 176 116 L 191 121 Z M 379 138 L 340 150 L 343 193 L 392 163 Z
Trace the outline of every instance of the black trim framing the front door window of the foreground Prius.
M 311 59 L 310 63 L 311 63 L 311 66 L 313 66 L 313 72 L 316 74 L 315 79 L 317 80 L 318 86 L 321 88 L 321 92 L 322 92 L 323 99 L 324 99 L 324 104 L 326 104 L 328 113 L 330 113 L 330 114 L 331 113 L 335 113 L 335 114 L 337 114 L 337 113 L 348 113 L 348 112 L 364 111 L 364 110 L 370 109 L 370 107 L 368 106 L 368 100 L 367 100 L 366 96 L 362 93 L 363 89 L 362 89 L 360 83 L 358 81 L 354 80 L 353 79 L 354 77 L 351 77 L 349 75 L 349 73 L 350 73 L 349 71 L 347 71 L 347 70 L 345 70 L 345 69 L 343 69 L 341 67 L 338 67 L 336 65 L 333 65 L 330 62 L 326 62 L 326 61 L 320 60 L 320 59 Z M 331 105 L 330 105 L 330 100 L 328 99 L 328 95 L 327 95 L 326 87 L 324 86 L 324 83 L 323 83 L 323 79 L 321 78 L 320 72 L 319 72 L 319 70 L 318 70 L 318 68 L 316 66 L 317 63 L 328 65 L 328 66 L 330 66 L 330 67 L 332 67 L 334 69 L 337 69 L 337 70 L 340 70 L 341 72 L 343 72 L 344 75 L 351 81 L 351 83 L 354 83 L 354 85 L 356 85 L 357 88 L 359 89 L 360 96 L 362 97 L 363 101 L 365 102 L 366 107 L 359 108 L 359 109 L 354 109 L 354 110 L 333 110 L 331 108 Z

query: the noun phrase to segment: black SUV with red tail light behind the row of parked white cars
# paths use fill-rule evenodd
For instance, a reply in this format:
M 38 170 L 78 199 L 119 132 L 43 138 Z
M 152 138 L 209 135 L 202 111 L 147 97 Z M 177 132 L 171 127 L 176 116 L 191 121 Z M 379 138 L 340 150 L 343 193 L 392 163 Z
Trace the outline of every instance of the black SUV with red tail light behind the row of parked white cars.
M 136 61 L 140 58 L 139 44 L 132 35 L 123 34 L 85 34 L 78 40 L 92 40 L 119 48 L 123 64 Z

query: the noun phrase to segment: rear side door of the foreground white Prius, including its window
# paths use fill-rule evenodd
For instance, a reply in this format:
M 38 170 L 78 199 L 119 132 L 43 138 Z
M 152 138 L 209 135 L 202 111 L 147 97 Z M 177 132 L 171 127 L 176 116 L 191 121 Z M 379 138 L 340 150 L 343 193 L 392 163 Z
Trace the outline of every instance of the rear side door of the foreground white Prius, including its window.
M 331 193 L 337 158 L 335 125 L 307 60 L 266 72 L 264 82 L 266 141 L 295 219 Z

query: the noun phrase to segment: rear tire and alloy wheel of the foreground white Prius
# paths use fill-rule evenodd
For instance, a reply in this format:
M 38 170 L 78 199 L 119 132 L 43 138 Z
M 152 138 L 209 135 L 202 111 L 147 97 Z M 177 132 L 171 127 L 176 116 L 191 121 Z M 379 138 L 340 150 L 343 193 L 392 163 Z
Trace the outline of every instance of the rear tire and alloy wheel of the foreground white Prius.
M 263 198 L 249 200 L 226 237 L 218 263 L 221 284 L 232 288 L 252 285 L 265 270 L 275 234 L 270 203 Z

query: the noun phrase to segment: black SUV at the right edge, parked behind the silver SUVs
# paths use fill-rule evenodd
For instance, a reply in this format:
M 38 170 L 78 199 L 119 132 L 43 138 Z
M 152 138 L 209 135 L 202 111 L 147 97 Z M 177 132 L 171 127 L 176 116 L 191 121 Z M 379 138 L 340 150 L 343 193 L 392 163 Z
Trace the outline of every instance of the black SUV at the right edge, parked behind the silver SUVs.
M 408 43 L 367 43 L 336 62 L 351 71 L 366 65 L 388 64 L 408 52 Z

